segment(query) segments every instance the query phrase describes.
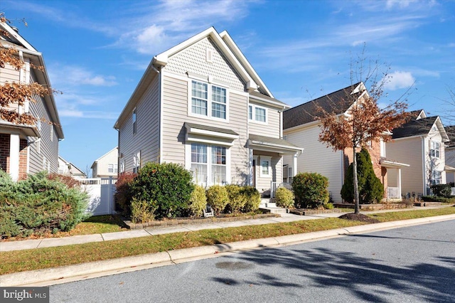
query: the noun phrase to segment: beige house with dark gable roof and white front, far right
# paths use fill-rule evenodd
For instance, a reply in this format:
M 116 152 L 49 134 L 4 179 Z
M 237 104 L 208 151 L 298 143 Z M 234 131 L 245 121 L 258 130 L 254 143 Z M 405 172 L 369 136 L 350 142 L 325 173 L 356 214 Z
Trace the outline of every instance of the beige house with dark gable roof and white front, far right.
M 445 143 L 449 137 L 438 116 L 427 117 L 424 110 L 411 112 L 412 119 L 393 130 L 387 142 L 387 156 L 410 164 L 402 170 L 402 195 L 428 195 L 432 184 L 446 183 Z M 395 179 L 389 174 L 389 181 Z

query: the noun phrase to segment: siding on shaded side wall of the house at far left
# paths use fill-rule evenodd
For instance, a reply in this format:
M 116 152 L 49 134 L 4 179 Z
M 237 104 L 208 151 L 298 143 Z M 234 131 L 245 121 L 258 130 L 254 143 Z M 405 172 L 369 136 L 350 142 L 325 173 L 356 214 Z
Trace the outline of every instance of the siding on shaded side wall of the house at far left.
M 36 82 L 33 72 L 30 73 L 30 76 L 30 83 Z M 55 132 L 55 126 L 51 123 L 53 121 L 50 117 L 48 108 L 45 106 L 45 100 L 39 96 L 34 96 L 33 100 L 35 100 L 35 102 L 30 102 L 30 113 L 43 121 L 41 121 L 41 138 L 29 138 L 29 173 L 35 174 L 38 171 L 47 171 L 48 166 L 50 172 L 56 173 L 58 172 L 57 132 Z M 39 152 L 38 144 L 40 145 Z M 45 162 L 45 164 L 43 164 L 43 162 Z

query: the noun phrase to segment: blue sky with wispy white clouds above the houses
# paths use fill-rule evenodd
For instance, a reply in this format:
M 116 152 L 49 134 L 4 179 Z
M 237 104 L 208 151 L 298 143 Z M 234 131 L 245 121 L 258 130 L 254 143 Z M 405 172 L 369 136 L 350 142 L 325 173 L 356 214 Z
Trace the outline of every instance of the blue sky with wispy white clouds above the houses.
M 291 106 L 350 85 L 351 58 L 387 65 L 387 104 L 450 110 L 455 1 L 0 1 L 43 53 L 65 139 L 83 171 L 117 145 L 113 129 L 151 58 L 214 26 L 228 31 L 277 99 Z M 20 23 L 25 18 L 28 27 Z M 368 85 L 367 85 L 368 86 Z

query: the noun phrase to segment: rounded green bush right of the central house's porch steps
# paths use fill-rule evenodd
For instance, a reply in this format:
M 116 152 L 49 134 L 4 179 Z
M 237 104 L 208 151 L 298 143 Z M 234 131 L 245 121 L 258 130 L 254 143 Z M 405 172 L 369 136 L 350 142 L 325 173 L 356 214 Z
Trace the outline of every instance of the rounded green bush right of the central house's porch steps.
M 328 179 L 318 173 L 300 173 L 294 176 L 292 189 L 296 208 L 319 208 L 328 202 Z

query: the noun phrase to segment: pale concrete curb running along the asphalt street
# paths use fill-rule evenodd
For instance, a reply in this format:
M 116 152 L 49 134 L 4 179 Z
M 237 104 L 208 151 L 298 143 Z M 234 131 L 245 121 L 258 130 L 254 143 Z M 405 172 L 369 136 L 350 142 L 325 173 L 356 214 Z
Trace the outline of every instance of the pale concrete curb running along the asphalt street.
M 156 252 L 147 255 L 87 262 L 78 265 L 68 265 L 63 267 L 48 268 L 44 270 L 14 272 L 11 274 L 0 275 L 0 286 L 48 286 L 62 284 L 77 280 L 92 279 L 94 277 L 115 275 L 122 272 L 132 272 L 134 270 L 143 270 L 151 267 L 178 264 L 191 260 L 197 260 L 203 257 L 216 257 L 225 255 L 228 252 L 235 252 L 240 250 L 273 248 L 284 245 L 293 245 L 309 240 L 335 238 L 341 235 L 366 233 L 371 231 L 386 230 L 425 223 L 434 223 L 453 219 L 455 219 L 455 215 L 374 223 L 368 225 L 352 226 L 348 228 L 338 228 L 333 230 L 321 230 L 314 233 L 300 233 L 296 235 L 283 235 L 275 238 L 263 238 L 218 245 L 200 246 L 198 248 L 169 250 L 167 252 Z

